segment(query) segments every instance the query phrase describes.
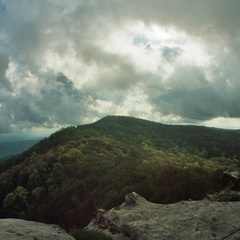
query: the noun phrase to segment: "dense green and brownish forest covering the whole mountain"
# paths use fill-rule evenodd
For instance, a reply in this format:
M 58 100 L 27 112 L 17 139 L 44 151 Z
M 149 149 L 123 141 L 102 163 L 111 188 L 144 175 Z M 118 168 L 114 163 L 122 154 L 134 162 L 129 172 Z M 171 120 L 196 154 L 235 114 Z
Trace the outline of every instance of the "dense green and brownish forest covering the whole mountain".
M 239 159 L 239 131 L 108 116 L 1 162 L 0 217 L 74 229 L 131 191 L 156 203 L 198 200 L 219 191 Z

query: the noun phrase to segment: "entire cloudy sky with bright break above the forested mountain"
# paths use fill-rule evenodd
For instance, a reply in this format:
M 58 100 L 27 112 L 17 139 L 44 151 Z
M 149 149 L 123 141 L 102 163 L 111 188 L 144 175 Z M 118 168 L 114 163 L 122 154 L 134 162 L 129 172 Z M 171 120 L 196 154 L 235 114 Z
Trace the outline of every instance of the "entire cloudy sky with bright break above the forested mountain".
M 0 0 L 0 133 L 106 115 L 240 128 L 240 1 Z

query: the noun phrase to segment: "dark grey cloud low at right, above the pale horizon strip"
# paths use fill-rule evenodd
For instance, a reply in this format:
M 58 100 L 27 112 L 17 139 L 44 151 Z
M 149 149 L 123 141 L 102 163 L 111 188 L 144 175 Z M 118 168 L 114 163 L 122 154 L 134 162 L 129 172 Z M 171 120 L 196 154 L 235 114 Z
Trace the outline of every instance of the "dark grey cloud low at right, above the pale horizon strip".
M 238 88 L 232 89 L 224 78 L 218 77 L 217 82 L 209 82 L 204 69 L 181 67 L 167 83 L 149 85 L 146 91 L 156 111 L 164 115 L 176 114 L 195 120 L 240 117 L 236 107 L 240 100 Z

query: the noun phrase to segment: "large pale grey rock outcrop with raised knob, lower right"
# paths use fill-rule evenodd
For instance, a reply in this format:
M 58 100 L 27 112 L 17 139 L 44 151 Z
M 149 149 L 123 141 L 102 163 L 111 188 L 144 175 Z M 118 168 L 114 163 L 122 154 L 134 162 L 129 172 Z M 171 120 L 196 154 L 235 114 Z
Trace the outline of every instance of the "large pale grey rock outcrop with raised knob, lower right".
M 154 204 L 136 193 L 109 211 L 99 210 L 87 229 L 116 240 L 239 240 L 240 202 L 181 201 Z

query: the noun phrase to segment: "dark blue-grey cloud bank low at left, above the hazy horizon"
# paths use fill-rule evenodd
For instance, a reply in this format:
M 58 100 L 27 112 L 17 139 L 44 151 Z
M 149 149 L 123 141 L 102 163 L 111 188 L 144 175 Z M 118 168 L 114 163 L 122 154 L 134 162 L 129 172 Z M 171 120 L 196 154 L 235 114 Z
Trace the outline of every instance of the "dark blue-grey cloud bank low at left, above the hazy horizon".
M 0 108 L 4 118 L 0 119 L 1 132 L 13 128 L 29 128 L 42 126 L 45 128 L 77 125 L 86 116 L 88 99 L 61 73 L 47 78 L 47 86 L 39 89 L 39 94 L 33 96 L 22 89 L 18 96 L 5 95 Z M 5 130 L 4 130 L 5 129 Z

